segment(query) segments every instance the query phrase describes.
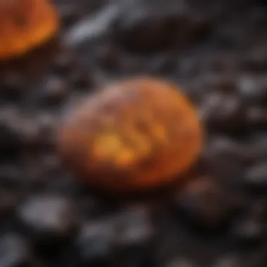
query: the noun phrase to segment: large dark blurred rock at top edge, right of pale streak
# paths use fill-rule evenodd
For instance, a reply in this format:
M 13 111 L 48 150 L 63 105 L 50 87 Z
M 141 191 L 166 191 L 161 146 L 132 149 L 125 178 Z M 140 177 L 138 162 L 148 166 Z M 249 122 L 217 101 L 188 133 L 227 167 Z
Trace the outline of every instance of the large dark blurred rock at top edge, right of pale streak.
M 131 51 L 158 51 L 178 44 L 188 44 L 206 21 L 188 15 L 184 1 L 124 1 L 112 23 L 115 41 Z

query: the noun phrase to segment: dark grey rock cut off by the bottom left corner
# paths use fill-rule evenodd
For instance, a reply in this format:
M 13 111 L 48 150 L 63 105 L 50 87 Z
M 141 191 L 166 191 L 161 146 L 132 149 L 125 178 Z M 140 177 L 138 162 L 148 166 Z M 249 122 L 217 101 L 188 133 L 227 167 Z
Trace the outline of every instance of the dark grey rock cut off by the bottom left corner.
M 13 233 L 6 233 L 6 235 L 0 237 L 0 266 L 34 266 L 30 260 L 27 243 L 22 237 Z

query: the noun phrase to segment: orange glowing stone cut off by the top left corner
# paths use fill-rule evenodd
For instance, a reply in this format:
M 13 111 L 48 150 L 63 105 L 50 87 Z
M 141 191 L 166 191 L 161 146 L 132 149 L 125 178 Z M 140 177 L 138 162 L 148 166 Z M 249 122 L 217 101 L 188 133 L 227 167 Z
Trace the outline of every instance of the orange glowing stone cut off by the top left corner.
M 0 60 L 27 53 L 59 29 L 56 8 L 48 0 L 0 1 Z

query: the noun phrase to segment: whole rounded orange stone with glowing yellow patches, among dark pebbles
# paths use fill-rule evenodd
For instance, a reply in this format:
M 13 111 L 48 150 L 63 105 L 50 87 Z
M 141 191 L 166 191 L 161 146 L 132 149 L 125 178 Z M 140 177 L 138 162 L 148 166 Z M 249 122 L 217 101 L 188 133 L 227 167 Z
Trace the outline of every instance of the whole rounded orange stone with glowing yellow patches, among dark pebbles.
M 90 185 L 146 190 L 182 174 L 202 150 L 195 108 L 169 82 L 139 78 L 96 92 L 63 119 L 59 152 Z

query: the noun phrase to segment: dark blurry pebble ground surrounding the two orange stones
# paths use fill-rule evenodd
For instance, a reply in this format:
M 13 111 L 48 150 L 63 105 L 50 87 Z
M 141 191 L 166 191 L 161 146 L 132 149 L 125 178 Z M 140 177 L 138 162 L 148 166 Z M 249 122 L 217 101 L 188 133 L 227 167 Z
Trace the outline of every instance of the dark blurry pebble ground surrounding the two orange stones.
M 0 266 L 266 267 L 267 2 L 55 3 L 59 40 L 0 65 Z M 207 145 L 183 188 L 112 202 L 60 167 L 56 129 L 137 74 L 183 87 Z

